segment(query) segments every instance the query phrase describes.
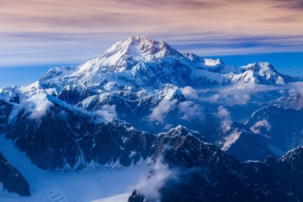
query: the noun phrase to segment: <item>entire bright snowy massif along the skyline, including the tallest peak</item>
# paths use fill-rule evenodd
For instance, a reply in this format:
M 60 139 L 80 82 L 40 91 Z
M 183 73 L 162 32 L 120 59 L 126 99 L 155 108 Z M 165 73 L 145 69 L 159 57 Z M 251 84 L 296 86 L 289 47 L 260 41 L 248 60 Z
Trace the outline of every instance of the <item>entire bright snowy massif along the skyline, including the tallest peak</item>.
M 51 68 L 38 83 L 23 87 L 21 91 L 45 88 L 62 90 L 66 85 L 109 91 L 114 88 L 139 91 L 156 90 L 167 83 L 184 87 L 294 81 L 300 81 L 300 78 L 282 75 L 266 62 L 234 67 L 225 65 L 219 59 L 199 58 L 192 53 L 182 55 L 163 41 L 135 36 L 115 43 L 103 55 L 80 65 Z

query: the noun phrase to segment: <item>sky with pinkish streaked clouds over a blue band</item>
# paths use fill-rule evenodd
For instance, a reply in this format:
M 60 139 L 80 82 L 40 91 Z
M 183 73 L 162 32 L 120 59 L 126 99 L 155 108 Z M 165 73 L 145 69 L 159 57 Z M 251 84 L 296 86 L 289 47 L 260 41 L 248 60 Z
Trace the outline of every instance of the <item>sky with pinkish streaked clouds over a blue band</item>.
M 34 82 L 134 35 L 303 75 L 302 0 L 0 0 L 0 86 Z

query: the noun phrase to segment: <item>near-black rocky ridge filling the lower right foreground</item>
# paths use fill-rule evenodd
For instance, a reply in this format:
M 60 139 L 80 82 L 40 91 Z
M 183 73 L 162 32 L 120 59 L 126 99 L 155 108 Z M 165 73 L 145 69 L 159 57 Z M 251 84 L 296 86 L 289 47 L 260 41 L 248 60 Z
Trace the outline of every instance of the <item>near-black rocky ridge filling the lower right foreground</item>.
M 265 162 L 237 159 L 216 151 L 213 147 L 197 147 L 196 161 L 186 156 L 192 142 L 185 141 L 178 147 L 163 151 L 164 162 L 174 169 L 183 165 L 178 180 L 165 180 L 159 189 L 160 201 L 301 201 L 303 194 L 303 148 L 289 151 L 280 160 L 269 156 Z M 201 145 L 200 145 L 201 146 Z M 199 149 L 200 148 L 200 149 Z M 156 176 L 155 172 L 152 176 Z M 291 177 L 290 177 L 291 176 Z M 157 176 L 156 176 L 157 177 Z M 290 177 L 290 178 L 289 178 Z M 287 180 L 288 179 L 288 180 Z M 147 180 L 148 183 L 148 180 Z M 147 198 L 148 199 L 148 198 Z M 129 201 L 147 200 L 144 193 L 135 190 Z M 151 200 L 153 201 L 153 200 Z

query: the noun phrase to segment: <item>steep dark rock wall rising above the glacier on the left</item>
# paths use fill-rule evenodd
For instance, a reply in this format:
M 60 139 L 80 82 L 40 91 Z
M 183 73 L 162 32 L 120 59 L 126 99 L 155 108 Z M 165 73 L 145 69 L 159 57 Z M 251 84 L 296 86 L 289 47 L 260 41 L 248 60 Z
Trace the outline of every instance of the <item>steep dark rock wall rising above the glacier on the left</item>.
M 29 116 L 20 111 L 2 131 L 43 170 L 81 169 L 90 163 L 130 166 L 148 157 L 155 139 L 123 121 L 98 121 L 96 115 L 58 104 L 38 121 Z

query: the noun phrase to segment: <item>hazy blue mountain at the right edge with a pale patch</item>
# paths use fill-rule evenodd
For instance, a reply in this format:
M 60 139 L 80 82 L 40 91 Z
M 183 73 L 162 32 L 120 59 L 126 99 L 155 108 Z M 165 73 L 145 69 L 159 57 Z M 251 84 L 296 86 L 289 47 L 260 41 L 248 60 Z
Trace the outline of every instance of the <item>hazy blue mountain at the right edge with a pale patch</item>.
M 266 137 L 279 156 L 296 146 L 303 146 L 303 110 L 270 105 L 256 111 L 245 124 Z

